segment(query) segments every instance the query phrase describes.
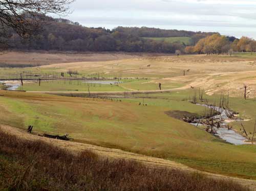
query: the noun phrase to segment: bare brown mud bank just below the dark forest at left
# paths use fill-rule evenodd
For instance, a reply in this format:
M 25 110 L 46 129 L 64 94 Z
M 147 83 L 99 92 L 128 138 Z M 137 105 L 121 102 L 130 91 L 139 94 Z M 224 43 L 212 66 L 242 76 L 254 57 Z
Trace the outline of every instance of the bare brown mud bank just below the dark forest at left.
M 14 52 L 7 51 L 0 54 L 0 63 L 4 66 L 17 67 L 19 66 L 40 66 L 56 63 L 67 62 L 96 62 L 96 61 L 111 61 L 121 59 L 141 58 L 148 56 L 161 56 L 165 54 L 149 54 L 149 53 L 122 53 L 122 52 L 102 52 L 102 53 L 72 53 L 72 52 Z M 0 66 L 1 66 L 0 64 Z

